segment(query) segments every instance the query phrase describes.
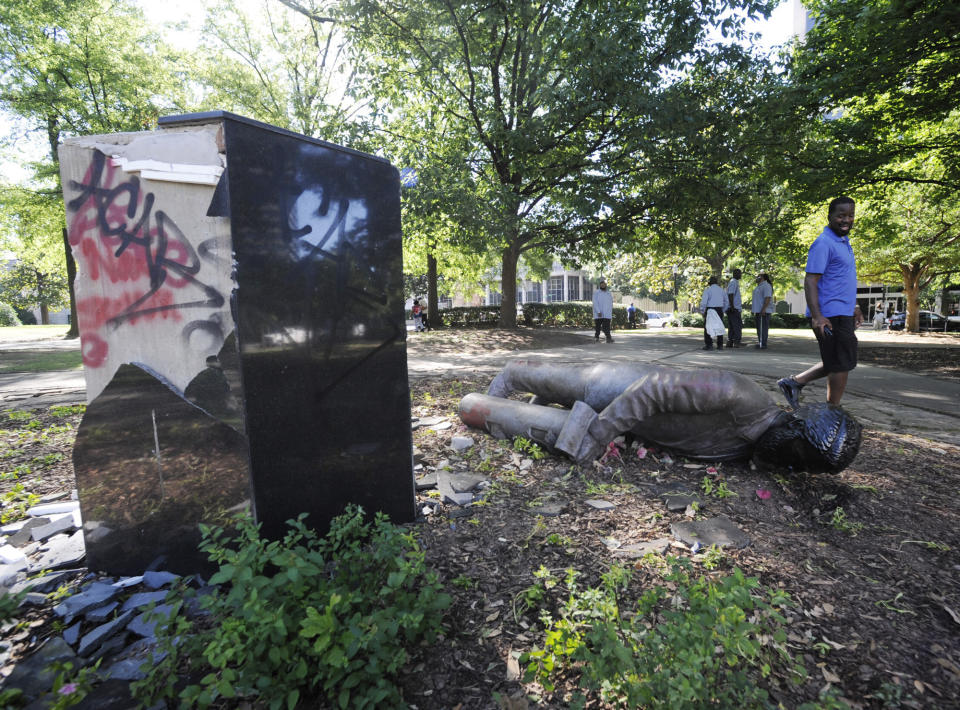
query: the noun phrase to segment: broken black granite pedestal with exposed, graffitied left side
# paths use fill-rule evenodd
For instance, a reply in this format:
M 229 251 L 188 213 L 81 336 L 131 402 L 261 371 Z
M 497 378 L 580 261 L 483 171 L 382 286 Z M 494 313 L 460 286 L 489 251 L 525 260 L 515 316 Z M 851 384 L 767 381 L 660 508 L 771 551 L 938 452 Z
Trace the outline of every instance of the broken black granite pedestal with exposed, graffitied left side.
M 61 164 L 90 566 L 200 570 L 198 524 L 245 506 L 272 537 L 348 503 L 411 520 L 397 171 L 222 112 L 73 139 Z

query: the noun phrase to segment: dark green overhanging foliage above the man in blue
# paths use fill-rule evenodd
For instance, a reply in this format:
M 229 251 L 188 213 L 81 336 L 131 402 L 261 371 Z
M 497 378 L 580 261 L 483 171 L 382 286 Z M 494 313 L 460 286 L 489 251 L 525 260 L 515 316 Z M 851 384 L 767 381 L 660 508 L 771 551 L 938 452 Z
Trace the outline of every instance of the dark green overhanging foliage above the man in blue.
M 954 0 L 807 0 L 815 26 L 795 48 L 784 113 L 809 126 L 789 150 L 810 201 L 870 184 L 960 193 L 960 5 Z M 930 130 L 918 130 L 927 127 Z M 934 130 L 935 129 L 935 130 Z M 936 159 L 933 179 L 912 159 Z

